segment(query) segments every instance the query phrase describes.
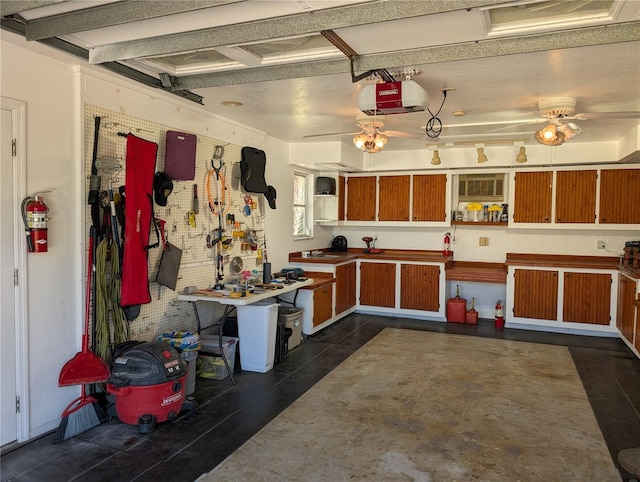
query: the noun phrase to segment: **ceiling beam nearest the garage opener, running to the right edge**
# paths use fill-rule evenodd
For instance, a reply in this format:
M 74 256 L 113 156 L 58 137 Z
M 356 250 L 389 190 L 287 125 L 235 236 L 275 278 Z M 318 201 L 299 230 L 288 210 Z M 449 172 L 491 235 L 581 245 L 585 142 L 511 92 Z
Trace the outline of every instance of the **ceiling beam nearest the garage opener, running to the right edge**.
M 584 27 L 523 37 L 482 40 L 460 44 L 366 54 L 355 59 L 356 71 L 405 68 L 415 65 L 482 59 L 502 55 L 589 47 L 601 44 L 640 41 L 640 21 Z M 348 59 L 300 62 L 211 74 L 177 77 L 176 89 L 203 89 L 223 85 L 248 84 L 329 74 L 351 74 Z

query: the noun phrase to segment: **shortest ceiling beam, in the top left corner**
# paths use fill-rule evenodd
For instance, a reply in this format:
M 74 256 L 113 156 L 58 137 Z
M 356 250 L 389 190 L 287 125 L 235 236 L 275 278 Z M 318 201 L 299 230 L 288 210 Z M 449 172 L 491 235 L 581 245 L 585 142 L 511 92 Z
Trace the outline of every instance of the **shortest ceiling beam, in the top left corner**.
M 109 3 L 29 20 L 25 25 L 25 36 L 27 40 L 42 40 L 241 1 L 244 0 L 180 0 L 179 2 L 175 0 L 135 0 Z

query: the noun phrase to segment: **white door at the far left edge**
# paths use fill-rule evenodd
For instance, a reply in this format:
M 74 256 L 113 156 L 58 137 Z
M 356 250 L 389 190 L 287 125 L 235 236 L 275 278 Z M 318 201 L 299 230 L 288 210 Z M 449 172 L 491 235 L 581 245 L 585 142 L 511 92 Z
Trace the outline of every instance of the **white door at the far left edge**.
M 27 411 L 19 413 L 18 398 L 26 401 L 26 393 L 21 391 L 22 360 L 26 357 L 25 325 L 20 322 L 24 314 L 22 307 L 26 280 L 20 280 L 19 274 L 26 264 L 26 255 L 21 250 L 26 243 L 20 242 L 19 229 L 20 196 L 24 192 L 25 172 L 24 153 L 16 156 L 13 140 L 24 150 L 26 110 L 23 102 L 2 98 L 2 117 L 0 118 L 0 445 L 11 442 L 24 442 L 28 438 L 28 423 L 25 423 Z M 20 139 L 18 139 L 20 137 Z M 20 352 L 21 356 L 18 356 Z

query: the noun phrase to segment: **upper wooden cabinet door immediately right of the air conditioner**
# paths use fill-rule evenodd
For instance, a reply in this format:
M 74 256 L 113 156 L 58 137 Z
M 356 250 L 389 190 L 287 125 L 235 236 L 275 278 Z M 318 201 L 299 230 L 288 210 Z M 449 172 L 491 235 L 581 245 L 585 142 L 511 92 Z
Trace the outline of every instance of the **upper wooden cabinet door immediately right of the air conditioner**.
M 516 173 L 513 221 L 516 223 L 551 222 L 551 183 L 553 173 Z

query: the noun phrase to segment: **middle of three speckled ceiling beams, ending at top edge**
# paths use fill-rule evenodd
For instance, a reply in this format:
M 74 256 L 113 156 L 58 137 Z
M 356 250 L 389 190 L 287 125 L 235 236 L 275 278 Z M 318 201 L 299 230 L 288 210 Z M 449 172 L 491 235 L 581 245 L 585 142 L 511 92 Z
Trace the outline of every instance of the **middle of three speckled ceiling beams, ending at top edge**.
M 191 52 L 499 3 L 504 3 L 504 0 L 372 0 L 366 5 L 360 3 L 98 46 L 89 51 L 89 62 L 99 64 Z

